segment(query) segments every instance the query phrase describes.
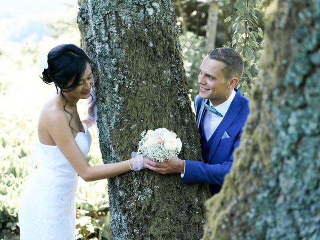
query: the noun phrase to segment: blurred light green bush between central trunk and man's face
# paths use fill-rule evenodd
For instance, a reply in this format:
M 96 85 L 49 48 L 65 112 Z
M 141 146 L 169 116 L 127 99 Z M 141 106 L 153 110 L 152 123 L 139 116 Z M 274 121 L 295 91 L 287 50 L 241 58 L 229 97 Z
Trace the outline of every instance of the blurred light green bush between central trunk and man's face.
M 188 79 L 189 96 L 194 99 L 199 92 L 197 83 L 199 67 L 207 53 L 204 48 L 204 37 L 188 31 L 180 34 L 179 39 L 182 46 L 183 67 Z

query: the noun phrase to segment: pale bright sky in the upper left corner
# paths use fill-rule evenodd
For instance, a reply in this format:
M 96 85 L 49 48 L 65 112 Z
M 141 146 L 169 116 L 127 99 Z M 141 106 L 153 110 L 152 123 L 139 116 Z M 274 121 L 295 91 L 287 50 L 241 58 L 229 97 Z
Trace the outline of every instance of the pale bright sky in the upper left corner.
M 0 30 L 4 28 L 12 41 L 38 41 L 47 32 L 45 19 L 62 12 L 66 4 L 77 5 L 77 0 L 1 0 Z

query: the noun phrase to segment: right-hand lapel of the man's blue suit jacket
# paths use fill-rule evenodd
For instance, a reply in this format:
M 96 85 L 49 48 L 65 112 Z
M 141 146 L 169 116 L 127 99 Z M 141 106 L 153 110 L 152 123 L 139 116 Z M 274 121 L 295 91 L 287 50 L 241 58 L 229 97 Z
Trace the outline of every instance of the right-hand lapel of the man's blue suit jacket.
M 208 155 L 208 162 L 211 161 L 212 156 L 214 155 L 214 152 L 219 144 L 219 141 L 221 140 L 221 137 L 226 131 L 226 129 L 229 127 L 229 125 L 233 122 L 234 118 L 238 115 L 241 106 L 238 105 L 239 95 L 240 93 L 237 91 L 234 99 L 232 100 L 229 109 L 225 113 L 225 116 L 223 117 L 223 120 L 219 124 L 219 126 L 216 128 L 215 132 L 212 134 L 213 140 L 210 147 L 210 152 Z

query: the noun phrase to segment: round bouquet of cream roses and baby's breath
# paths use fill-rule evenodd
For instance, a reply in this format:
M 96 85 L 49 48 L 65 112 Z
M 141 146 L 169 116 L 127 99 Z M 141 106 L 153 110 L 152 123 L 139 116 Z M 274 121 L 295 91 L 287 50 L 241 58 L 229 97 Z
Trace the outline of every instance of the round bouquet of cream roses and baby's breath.
M 176 134 L 166 128 L 157 128 L 141 132 L 138 143 L 138 153 L 148 156 L 154 161 L 167 161 L 177 156 L 181 150 L 182 142 Z

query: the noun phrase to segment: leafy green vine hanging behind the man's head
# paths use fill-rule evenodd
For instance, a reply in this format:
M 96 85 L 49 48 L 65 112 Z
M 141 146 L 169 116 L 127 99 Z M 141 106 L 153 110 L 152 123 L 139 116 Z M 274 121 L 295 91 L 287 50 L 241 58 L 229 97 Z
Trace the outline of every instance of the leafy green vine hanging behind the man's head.
M 238 0 L 234 4 L 236 16 L 228 16 L 224 22 L 232 19 L 233 37 L 227 46 L 232 46 L 240 53 L 244 60 L 244 73 L 238 84 L 240 91 L 247 97 L 251 93 L 251 85 L 257 79 L 258 65 L 256 58 L 259 53 L 260 44 L 258 38 L 262 39 L 262 29 L 258 27 L 257 13 L 260 13 L 258 5 L 261 0 Z

